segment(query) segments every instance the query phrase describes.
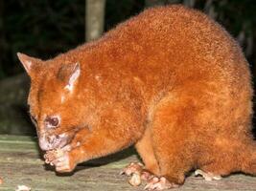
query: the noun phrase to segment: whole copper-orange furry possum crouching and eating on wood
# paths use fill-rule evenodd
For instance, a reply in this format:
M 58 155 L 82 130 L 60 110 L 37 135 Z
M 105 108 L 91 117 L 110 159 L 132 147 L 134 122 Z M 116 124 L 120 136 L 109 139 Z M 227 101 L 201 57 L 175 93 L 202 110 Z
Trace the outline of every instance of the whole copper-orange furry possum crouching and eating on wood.
M 207 15 L 158 7 L 53 59 L 18 53 L 39 146 L 58 172 L 130 145 L 146 189 L 256 175 L 252 86 L 238 43 Z

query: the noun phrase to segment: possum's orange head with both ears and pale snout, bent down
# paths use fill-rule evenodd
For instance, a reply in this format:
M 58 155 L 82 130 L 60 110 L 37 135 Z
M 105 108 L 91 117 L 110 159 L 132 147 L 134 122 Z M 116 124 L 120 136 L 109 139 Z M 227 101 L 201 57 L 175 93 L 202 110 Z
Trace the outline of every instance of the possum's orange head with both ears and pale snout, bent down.
M 22 53 L 17 55 L 31 77 L 28 103 L 39 146 L 42 150 L 61 148 L 83 125 L 78 91 L 80 64 L 66 60 L 42 61 Z

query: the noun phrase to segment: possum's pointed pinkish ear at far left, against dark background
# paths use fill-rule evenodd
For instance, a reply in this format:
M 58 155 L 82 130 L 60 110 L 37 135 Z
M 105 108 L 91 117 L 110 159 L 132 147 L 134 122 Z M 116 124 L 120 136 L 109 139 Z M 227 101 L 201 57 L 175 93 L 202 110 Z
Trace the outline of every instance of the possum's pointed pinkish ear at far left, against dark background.
M 19 61 L 22 63 L 26 72 L 32 76 L 33 73 L 36 72 L 38 65 L 42 62 L 42 60 L 37 59 L 35 57 L 31 57 L 24 53 L 17 53 Z

